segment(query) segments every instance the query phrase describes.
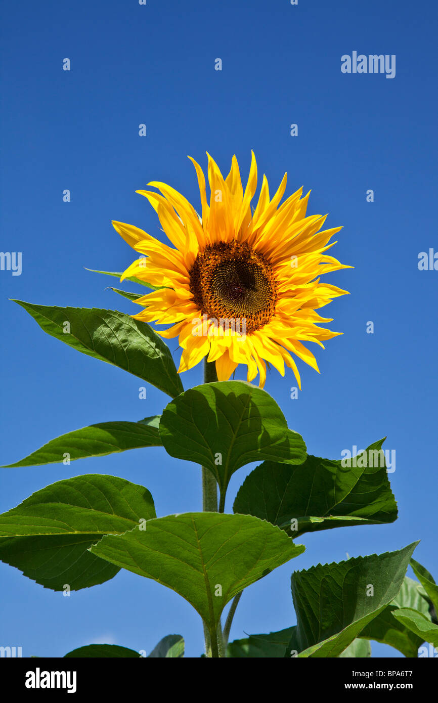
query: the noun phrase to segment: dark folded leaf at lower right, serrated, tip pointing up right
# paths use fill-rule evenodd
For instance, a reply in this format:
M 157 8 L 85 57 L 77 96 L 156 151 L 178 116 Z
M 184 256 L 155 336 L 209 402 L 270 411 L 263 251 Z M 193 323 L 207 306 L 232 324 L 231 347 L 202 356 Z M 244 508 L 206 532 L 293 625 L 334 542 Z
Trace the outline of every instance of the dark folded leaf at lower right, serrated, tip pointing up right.
M 292 574 L 298 657 L 338 657 L 394 600 L 418 542 Z

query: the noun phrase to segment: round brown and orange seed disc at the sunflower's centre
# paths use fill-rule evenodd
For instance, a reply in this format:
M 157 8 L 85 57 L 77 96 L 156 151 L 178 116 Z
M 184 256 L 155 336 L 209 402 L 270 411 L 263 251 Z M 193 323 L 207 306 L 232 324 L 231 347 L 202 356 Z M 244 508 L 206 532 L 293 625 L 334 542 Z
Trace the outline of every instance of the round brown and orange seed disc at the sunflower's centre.
M 255 332 L 275 312 L 277 283 L 271 264 L 247 243 L 219 242 L 199 252 L 190 274 L 195 304 L 209 318 L 246 320 Z

